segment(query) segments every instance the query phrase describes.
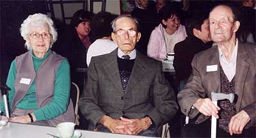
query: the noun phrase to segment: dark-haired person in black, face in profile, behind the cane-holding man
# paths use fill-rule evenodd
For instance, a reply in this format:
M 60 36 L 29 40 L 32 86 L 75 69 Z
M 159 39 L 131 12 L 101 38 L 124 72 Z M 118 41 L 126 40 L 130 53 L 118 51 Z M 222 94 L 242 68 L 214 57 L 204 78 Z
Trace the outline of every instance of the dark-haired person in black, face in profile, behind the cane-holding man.
M 196 53 L 209 49 L 212 45 L 209 31 L 208 15 L 196 15 L 188 19 L 186 25 L 188 37 L 179 42 L 174 47 L 173 66 L 175 68 L 175 86 L 179 86 L 180 81 L 188 79 L 192 67 L 192 59 Z

